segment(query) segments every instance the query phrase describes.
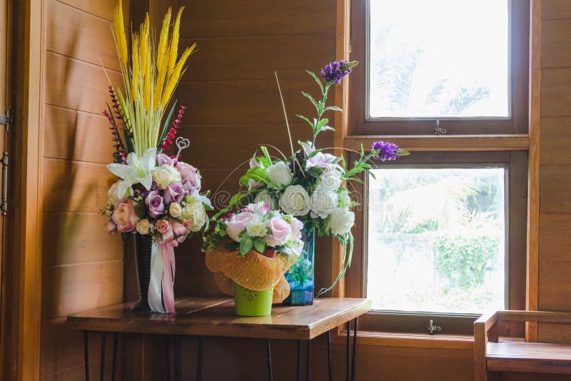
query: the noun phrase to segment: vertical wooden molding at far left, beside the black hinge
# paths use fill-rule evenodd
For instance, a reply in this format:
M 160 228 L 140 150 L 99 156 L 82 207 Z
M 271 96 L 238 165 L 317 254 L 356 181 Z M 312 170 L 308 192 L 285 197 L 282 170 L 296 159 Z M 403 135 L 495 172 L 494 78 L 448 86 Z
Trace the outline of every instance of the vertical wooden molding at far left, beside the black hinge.
M 22 43 L 21 105 L 18 111 L 21 153 L 21 208 L 14 218 L 19 222 L 19 320 L 18 380 L 39 379 L 41 327 L 41 226 L 42 161 L 44 156 L 42 121 L 44 112 L 45 68 L 44 0 L 20 3 Z

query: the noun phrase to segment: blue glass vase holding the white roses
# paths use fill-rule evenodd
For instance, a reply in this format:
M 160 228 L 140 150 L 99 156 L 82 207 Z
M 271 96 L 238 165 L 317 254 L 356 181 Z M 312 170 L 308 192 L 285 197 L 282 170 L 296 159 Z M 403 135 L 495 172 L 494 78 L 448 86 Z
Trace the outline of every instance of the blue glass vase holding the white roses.
M 290 284 L 290 295 L 283 303 L 287 305 L 313 304 L 313 273 L 315 253 L 315 229 L 306 223 L 301 231 L 303 250 L 298 262 L 285 273 Z

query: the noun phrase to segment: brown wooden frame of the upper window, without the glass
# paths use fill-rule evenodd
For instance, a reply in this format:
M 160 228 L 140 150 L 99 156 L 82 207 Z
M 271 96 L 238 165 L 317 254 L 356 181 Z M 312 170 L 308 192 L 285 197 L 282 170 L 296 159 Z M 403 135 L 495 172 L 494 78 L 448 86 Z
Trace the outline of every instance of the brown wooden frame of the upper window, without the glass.
M 510 117 L 508 118 L 369 118 L 369 0 L 351 1 L 351 59 L 361 61 L 349 85 L 348 133 L 352 136 L 406 136 L 434 133 L 436 121 L 447 135 L 519 134 L 528 131 L 530 0 L 508 0 Z M 363 88 L 365 91 L 363 91 Z

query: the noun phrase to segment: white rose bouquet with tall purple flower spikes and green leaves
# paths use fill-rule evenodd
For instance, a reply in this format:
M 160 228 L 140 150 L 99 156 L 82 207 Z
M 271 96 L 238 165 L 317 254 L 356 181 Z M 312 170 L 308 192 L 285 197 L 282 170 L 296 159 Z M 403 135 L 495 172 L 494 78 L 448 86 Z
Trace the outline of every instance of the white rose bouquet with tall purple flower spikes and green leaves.
M 338 277 L 329 288 L 320 290 L 327 292 L 340 280 L 348 269 L 353 254 L 353 235 L 351 228 L 355 223 L 355 214 L 351 210 L 356 204 L 351 201 L 350 191 L 345 185 L 348 181 L 358 181 L 359 173 L 369 173 L 372 168 L 370 160 L 395 160 L 408 152 L 398 148 L 394 143 L 378 141 L 365 155 L 363 146 L 353 168 L 348 168 L 345 160 L 315 147 L 315 138 L 323 131 L 331 131 L 328 118 L 323 114 L 327 111 L 343 112 L 336 106 L 326 106 L 328 91 L 331 86 L 340 83 L 358 64 L 356 61 L 335 61 L 321 70 L 321 78 L 315 73 L 308 74 L 318 84 L 321 96 L 315 99 L 309 93 L 303 93 L 315 107 L 316 117 L 298 116 L 308 123 L 313 132 L 311 141 L 299 141 L 300 149 L 286 157 L 278 151 L 278 157 L 271 156 L 268 149 L 261 147 L 261 156 L 254 155 L 250 161 L 250 169 L 242 176 L 241 186 L 247 188 L 230 201 L 233 205 L 253 200 L 254 203 L 265 203 L 271 210 L 282 210 L 299 218 L 310 229 L 317 230 L 319 235 L 333 235 L 345 248 L 343 263 Z M 286 120 L 287 124 L 287 120 Z M 288 127 L 289 131 L 289 127 Z M 303 264 L 300 262 L 300 264 Z M 313 291 L 313 285 L 312 285 Z

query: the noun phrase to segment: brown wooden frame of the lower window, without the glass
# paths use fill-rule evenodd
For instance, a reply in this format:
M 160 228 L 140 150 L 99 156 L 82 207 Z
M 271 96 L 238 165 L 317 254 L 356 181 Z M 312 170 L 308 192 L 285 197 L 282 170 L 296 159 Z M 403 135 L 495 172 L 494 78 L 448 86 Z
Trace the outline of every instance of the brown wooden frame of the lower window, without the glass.
M 354 160 L 350 155 L 350 160 Z M 526 226 L 527 226 L 527 152 L 525 151 L 484 151 L 484 152 L 415 152 L 414 155 L 400 158 L 399 161 L 383 163 L 382 166 L 505 166 L 506 168 L 506 308 L 525 309 L 525 268 L 526 268 Z M 353 265 L 345 280 L 345 296 L 366 298 L 367 283 L 367 178 L 355 187 L 356 200 L 363 208 L 356 208 L 355 253 Z M 472 335 L 473 322 L 480 315 L 458 313 L 428 313 L 390 310 L 372 310 L 360 320 L 360 329 L 382 332 L 412 332 L 425 334 L 430 320 L 443 327 L 444 334 Z M 522 335 L 520 325 L 505 328 L 510 334 Z

